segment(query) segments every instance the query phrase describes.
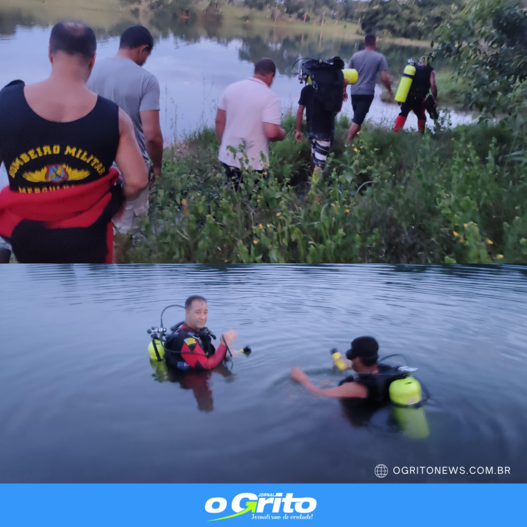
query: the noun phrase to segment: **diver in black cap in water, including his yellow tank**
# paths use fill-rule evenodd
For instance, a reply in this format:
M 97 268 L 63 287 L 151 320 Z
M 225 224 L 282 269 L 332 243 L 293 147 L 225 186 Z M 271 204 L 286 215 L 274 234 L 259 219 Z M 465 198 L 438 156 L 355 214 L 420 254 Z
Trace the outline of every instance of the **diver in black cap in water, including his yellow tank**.
M 363 399 L 379 404 L 390 403 L 403 432 L 413 438 L 426 437 L 428 425 L 422 405 L 428 393 L 425 390 L 426 399 L 423 399 L 423 387 L 413 376 L 416 368 L 379 362 L 378 350 L 375 338 L 358 337 L 346 352 L 350 361 L 346 363 L 337 350 L 332 349 L 331 357 L 339 369 L 351 366 L 356 372 L 342 379 L 335 388 L 315 386 L 306 373 L 298 368 L 292 368 L 291 378 L 316 394 L 339 399 Z

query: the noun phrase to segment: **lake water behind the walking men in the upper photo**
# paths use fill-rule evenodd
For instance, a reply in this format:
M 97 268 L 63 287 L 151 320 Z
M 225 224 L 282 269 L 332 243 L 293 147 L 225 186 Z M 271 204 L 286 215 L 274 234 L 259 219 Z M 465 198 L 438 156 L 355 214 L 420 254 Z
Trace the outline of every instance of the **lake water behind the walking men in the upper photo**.
M 0 71 L 0 85 L 15 78 L 26 82 L 41 80 L 50 71 L 47 61 L 47 40 L 50 24 L 56 21 L 51 14 L 30 15 L 31 10 L 0 7 L 0 53 L 5 64 Z M 77 16 L 93 16 L 82 11 Z M 101 15 L 102 16 L 102 15 Z M 98 24 L 97 24 L 98 22 Z M 119 35 L 139 19 L 123 15 L 113 25 L 104 18 L 94 21 L 99 38 L 98 57 L 113 56 L 119 47 Z M 181 21 L 155 16 L 148 25 L 157 45 L 145 66 L 155 74 L 162 87 L 161 125 L 165 138 L 171 142 L 185 132 L 209 125 L 216 115 L 221 92 L 225 87 L 252 75 L 253 63 L 269 56 L 278 67 L 278 78 L 272 89 L 279 95 L 282 110 L 296 106 L 301 86 L 291 74 L 291 66 L 299 56 L 329 58 L 338 55 L 346 61 L 362 45 L 360 37 L 344 40 L 307 31 L 298 34 L 287 28 L 245 26 L 240 21 L 189 19 Z M 101 28 L 104 27 L 104 28 Z M 4 35 L 4 37 L 2 37 Z M 381 42 L 379 51 L 385 54 L 389 71 L 399 75 L 410 57 L 418 58 L 425 48 Z M 435 64 L 445 67 L 441 58 Z M 441 92 L 441 86 L 440 86 Z M 396 104 L 385 104 L 379 98 L 380 87 L 368 120 L 393 125 L 399 112 Z M 351 105 L 343 112 L 352 115 Z M 452 112 L 454 125 L 470 122 L 471 115 Z M 407 128 L 416 129 L 417 120 L 411 114 Z

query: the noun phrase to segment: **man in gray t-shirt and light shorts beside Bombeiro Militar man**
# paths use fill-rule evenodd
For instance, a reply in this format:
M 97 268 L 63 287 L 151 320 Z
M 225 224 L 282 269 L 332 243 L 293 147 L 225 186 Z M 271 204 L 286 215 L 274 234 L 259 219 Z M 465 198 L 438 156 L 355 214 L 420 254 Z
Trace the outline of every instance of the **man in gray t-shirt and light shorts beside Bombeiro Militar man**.
M 159 82 L 141 66 L 152 52 L 154 40 L 143 26 L 132 26 L 123 32 L 117 55 L 95 63 L 87 87 L 97 95 L 110 99 L 132 120 L 135 138 L 147 167 L 152 160 L 155 176 L 161 175 L 163 135 L 159 123 Z M 150 159 L 149 159 L 150 158 Z M 116 229 L 128 233 L 139 226 L 139 217 L 148 212 L 147 187 L 114 219 Z

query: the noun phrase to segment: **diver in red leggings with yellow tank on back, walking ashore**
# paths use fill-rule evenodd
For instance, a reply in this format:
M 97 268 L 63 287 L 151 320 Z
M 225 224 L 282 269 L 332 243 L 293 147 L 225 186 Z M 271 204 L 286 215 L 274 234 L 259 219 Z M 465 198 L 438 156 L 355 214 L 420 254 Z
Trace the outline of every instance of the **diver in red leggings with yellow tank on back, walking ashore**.
M 394 132 L 403 129 L 408 113 L 413 111 L 417 115 L 417 129 L 425 131 L 426 114 L 428 111 L 431 118 L 436 120 L 437 113 L 437 85 L 435 83 L 435 71 L 432 67 L 434 55 L 427 53 L 423 55 L 418 63 L 412 60 L 404 69 L 403 77 L 399 83 L 395 100 L 401 103 L 401 113 L 397 116 Z M 428 92 L 432 95 L 428 95 Z

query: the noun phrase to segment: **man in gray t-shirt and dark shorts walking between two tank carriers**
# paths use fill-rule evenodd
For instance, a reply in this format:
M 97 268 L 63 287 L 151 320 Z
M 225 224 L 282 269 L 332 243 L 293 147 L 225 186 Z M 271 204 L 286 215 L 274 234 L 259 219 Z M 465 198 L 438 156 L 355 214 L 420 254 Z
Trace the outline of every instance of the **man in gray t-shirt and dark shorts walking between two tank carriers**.
M 369 107 L 375 95 L 375 83 L 377 73 L 388 90 L 390 97 L 393 96 L 392 86 L 388 77 L 388 64 L 382 53 L 375 51 L 377 38 L 375 35 L 366 35 L 364 39 L 365 50 L 358 51 L 349 61 L 349 68 L 357 70 L 358 81 L 352 85 L 353 123 L 349 128 L 346 143 L 352 143 L 360 130 L 360 126 L 366 118 Z

